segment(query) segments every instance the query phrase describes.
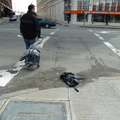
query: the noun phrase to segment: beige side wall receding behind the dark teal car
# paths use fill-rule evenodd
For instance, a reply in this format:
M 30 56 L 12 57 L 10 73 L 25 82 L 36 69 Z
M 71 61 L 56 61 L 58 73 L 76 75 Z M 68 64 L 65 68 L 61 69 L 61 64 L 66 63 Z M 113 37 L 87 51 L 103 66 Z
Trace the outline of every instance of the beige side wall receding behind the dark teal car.
M 63 0 L 37 0 L 37 14 L 56 21 L 64 21 Z

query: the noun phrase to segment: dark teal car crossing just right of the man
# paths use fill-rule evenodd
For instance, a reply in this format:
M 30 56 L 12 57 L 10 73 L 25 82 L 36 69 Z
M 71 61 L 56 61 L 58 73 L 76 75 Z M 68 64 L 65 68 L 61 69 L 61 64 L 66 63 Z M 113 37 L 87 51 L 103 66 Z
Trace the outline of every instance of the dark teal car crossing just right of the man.
M 47 18 L 38 18 L 38 21 L 40 23 L 40 26 L 46 27 L 46 28 L 50 28 L 50 27 L 55 27 L 56 26 L 56 22 L 52 21 L 50 19 Z

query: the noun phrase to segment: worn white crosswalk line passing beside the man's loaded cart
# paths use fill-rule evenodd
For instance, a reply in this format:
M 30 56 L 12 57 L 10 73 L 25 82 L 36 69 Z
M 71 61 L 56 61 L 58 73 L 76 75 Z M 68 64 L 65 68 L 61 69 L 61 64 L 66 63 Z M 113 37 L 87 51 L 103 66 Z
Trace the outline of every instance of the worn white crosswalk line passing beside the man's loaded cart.
M 60 30 L 61 28 L 56 29 L 56 31 L 50 33 L 51 35 L 53 35 L 53 33 L 55 34 L 55 32 L 57 32 L 58 30 Z M 45 43 L 51 38 L 51 36 L 47 36 L 45 37 L 42 42 L 41 42 L 41 48 L 43 48 L 43 46 L 45 45 Z M 13 69 L 10 70 L 0 70 L 0 87 L 5 87 L 10 80 L 15 77 L 20 70 L 22 69 L 22 67 L 25 65 L 25 61 L 19 61 L 17 62 Z

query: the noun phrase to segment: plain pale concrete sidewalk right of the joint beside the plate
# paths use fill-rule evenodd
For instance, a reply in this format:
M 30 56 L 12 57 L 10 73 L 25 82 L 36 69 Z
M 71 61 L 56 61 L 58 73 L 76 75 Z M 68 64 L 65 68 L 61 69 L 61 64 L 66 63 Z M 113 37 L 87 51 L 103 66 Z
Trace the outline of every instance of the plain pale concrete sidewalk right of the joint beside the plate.
M 74 90 L 70 88 L 69 99 L 73 119 L 119 119 L 119 79 L 111 79 L 111 77 L 101 77 L 99 80 L 94 79 L 94 82 L 77 88 L 79 92 L 74 92 Z

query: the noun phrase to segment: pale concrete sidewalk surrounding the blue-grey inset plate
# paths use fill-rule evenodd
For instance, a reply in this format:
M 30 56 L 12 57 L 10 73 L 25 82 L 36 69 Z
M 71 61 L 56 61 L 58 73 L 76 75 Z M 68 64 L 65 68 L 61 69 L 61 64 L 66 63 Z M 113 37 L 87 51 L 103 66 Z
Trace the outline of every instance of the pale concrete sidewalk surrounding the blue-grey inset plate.
M 36 88 L 2 95 L 0 96 L 0 113 L 4 111 L 10 101 L 37 101 L 64 103 L 66 109 L 65 120 L 120 119 L 120 77 L 95 79 L 83 87 L 78 86 L 78 90 L 79 92 L 76 92 L 74 88 L 46 90 Z M 56 113 L 56 111 L 52 112 Z M 3 120 L 2 115 L 0 118 Z M 49 118 L 49 120 L 55 119 Z

